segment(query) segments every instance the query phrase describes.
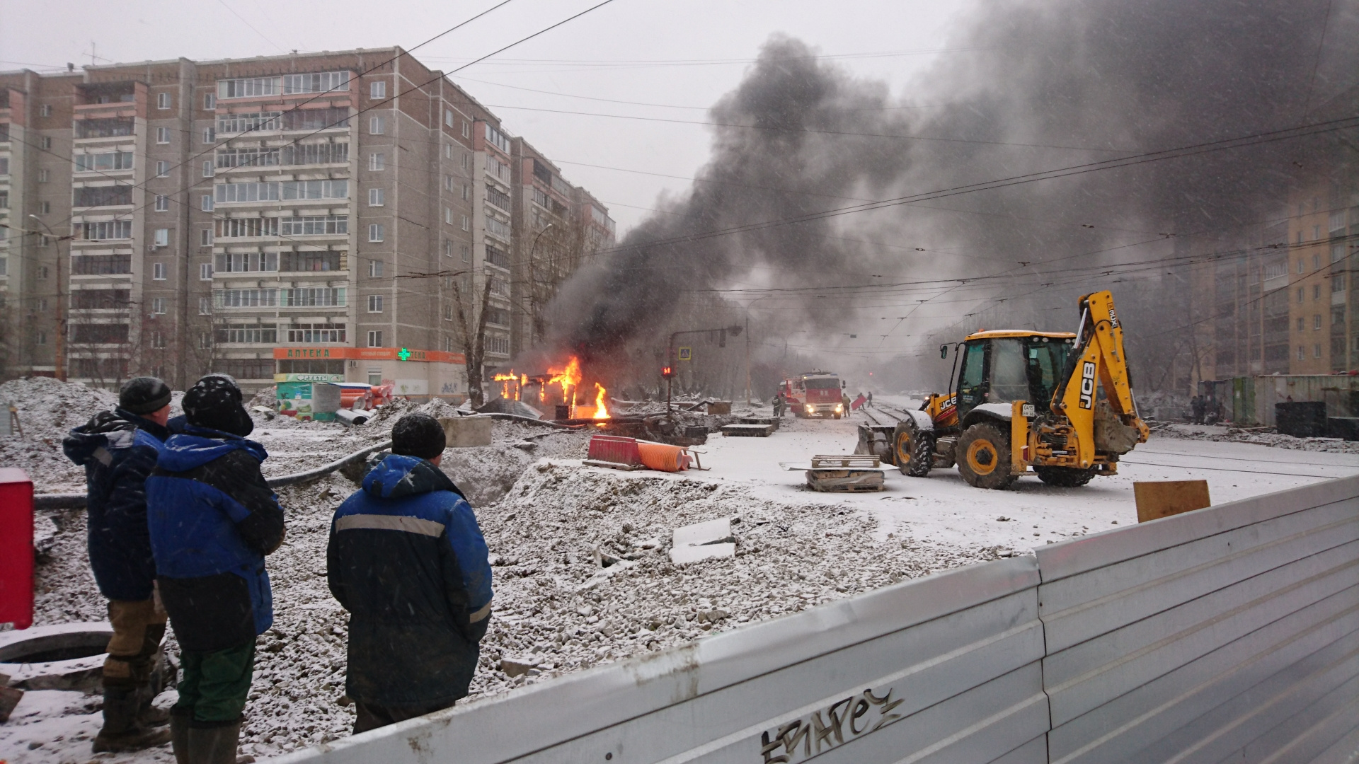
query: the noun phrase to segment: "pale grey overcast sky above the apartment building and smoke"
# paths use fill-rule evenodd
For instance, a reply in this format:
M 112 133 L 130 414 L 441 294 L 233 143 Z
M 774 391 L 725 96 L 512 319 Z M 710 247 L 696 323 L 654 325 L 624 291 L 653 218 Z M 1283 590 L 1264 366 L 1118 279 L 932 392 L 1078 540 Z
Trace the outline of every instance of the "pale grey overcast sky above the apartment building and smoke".
M 450 71 L 598 1 L 512 0 L 414 56 Z M 64 69 L 90 64 L 91 56 L 107 64 L 409 49 L 495 4 L 0 0 L 0 71 Z M 621 234 L 648 215 L 658 194 L 688 186 L 680 178 L 705 162 L 711 132 L 684 122 L 707 120 L 705 109 L 739 82 L 769 35 L 798 37 L 909 97 L 911 77 L 938 56 L 966 54 L 942 49 L 950 24 L 970 7 L 968 0 L 613 0 L 454 79 L 511 133 L 557 160 L 568 179 L 607 203 Z

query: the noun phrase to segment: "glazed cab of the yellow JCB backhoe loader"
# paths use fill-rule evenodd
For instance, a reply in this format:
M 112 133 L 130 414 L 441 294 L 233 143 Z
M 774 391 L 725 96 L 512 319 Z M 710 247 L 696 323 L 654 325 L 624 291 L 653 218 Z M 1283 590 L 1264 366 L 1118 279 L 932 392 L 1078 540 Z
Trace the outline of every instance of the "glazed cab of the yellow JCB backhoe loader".
M 1052 411 L 1052 396 L 1070 375 L 1071 332 L 991 330 L 968 336 L 958 348 L 957 421 L 983 404 L 1029 401 Z

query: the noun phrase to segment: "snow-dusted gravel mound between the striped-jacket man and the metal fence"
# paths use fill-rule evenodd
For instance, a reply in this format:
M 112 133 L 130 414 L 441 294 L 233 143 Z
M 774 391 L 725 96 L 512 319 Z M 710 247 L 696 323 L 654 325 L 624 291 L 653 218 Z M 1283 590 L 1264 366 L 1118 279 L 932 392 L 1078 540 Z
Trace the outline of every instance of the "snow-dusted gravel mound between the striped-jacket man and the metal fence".
M 746 487 L 541 461 L 478 513 L 495 563 L 495 619 L 474 693 L 662 650 L 904 578 L 989 560 L 998 548 L 874 540 L 834 504 L 781 504 Z M 731 517 L 734 559 L 670 563 L 677 526 Z M 607 564 L 607 567 L 603 567 Z M 501 658 L 531 663 L 511 678 Z

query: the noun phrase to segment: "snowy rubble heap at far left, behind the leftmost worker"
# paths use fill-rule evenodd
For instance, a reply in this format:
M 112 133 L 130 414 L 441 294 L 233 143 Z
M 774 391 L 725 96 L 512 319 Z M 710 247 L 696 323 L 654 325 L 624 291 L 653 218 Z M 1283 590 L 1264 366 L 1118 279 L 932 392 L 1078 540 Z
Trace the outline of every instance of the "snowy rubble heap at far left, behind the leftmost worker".
M 0 416 L 10 416 L 11 404 L 19 409 L 23 436 L 0 438 L 0 465 L 27 472 L 38 492 L 83 491 L 84 468 L 61 453 L 61 439 L 91 416 L 117 406 L 118 396 L 49 377 L 31 377 L 0 385 Z

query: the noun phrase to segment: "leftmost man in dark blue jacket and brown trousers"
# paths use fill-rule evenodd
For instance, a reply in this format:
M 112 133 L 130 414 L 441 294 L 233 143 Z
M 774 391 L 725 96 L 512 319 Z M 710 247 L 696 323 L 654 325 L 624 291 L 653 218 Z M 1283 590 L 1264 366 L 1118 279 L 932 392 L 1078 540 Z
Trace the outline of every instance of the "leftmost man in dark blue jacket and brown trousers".
M 170 436 L 170 387 L 155 377 L 129 379 L 118 406 L 99 412 L 63 440 L 67 457 L 86 468 L 90 567 L 109 598 L 109 657 L 103 661 L 103 727 L 95 753 L 163 745 L 170 731 L 155 729 L 164 714 L 151 707 L 159 691 L 154 674 L 166 632 L 156 604 L 156 566 L 147 532 L 147 476 Z

